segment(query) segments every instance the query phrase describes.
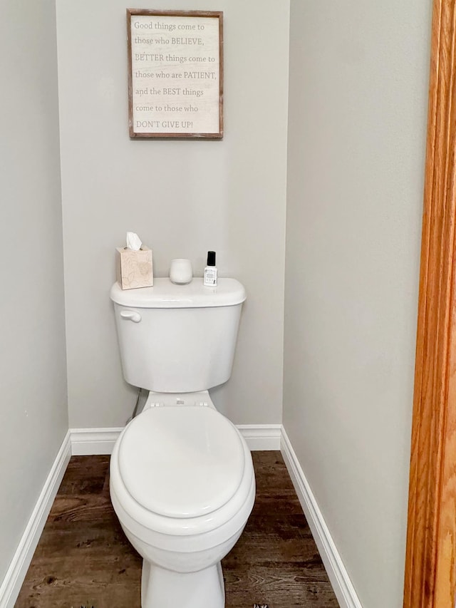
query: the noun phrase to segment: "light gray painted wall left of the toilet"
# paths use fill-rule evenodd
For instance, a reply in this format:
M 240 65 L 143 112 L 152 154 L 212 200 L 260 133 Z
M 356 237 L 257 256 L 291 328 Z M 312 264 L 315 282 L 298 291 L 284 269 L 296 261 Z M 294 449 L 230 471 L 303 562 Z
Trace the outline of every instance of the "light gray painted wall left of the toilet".
M 2 3 L 0 54 L 1 581 L 68 429 L 53 1 Z

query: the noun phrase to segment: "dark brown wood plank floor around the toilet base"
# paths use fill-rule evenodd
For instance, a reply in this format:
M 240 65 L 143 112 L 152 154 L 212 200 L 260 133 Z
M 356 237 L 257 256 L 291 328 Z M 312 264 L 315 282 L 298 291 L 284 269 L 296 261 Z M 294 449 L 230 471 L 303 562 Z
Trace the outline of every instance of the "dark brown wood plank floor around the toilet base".
M 252 456 L 257 498 L 222 562 L 226 608 L 337 608 L 281 454 Z M 109 456 L 73 456 L 15 608 L 140 608 L 140 572 L 110 504 Z

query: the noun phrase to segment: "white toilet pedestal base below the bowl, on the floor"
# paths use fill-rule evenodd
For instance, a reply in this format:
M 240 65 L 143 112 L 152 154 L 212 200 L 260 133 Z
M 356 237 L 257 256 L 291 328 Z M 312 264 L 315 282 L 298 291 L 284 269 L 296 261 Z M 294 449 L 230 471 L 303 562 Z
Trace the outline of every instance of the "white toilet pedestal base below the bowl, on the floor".
M 220 562 L 199 572 L 172 572 L 142 560 L 141 608 L 224 608 Z

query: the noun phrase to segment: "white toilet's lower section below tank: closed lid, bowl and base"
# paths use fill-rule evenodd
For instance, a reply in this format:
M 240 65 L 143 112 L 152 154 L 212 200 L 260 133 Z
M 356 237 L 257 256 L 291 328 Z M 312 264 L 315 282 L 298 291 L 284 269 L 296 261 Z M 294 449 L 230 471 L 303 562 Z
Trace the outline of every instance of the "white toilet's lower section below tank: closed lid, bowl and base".
M 142 608 L 223 608 L 220 562 L 254 504 L 252 457 L 241 433 L 208 393 L 197 405 L 183 397 L 171 405 L 151 393 L 110 462 L 114 510 L 143 559 Z

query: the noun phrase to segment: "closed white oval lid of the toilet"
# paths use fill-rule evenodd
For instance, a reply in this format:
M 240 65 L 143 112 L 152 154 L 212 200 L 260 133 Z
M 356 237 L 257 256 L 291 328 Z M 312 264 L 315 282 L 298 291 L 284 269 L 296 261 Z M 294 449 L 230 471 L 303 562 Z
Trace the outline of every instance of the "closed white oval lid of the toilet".
M 156 407 L 125 429 L 118 462 L 125 488 L 142 507 L 198 517 L 236 493 L 244 447 L 237 428 L 212 408 Z

